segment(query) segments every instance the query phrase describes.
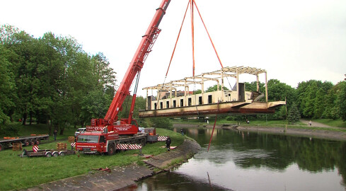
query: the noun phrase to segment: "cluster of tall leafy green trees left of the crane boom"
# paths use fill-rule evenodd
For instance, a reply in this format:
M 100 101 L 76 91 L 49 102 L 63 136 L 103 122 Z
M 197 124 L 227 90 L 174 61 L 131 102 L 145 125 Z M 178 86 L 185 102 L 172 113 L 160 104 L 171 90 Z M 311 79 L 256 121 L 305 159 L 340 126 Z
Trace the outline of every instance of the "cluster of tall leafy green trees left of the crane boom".
M 1 25 L 0 63 L 0 127 L 35 119 L 63 134 L 67 124 L 107 112 L 115 94 L 116 73 L 105 55 L 87 54 L 72 37 L 35 38 Z

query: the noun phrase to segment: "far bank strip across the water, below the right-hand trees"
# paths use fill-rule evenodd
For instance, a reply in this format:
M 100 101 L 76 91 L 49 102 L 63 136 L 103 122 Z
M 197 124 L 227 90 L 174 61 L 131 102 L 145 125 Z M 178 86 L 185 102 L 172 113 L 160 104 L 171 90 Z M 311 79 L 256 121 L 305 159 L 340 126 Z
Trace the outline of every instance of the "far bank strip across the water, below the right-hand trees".
M 198 125 L 198 124 L 173 124 L 173 127 L 204 127 L 204 128 L 213 128 L 213 125 Z M 216 125 L 215 128 L 224 128 L 232 129 L 242 132 L 264 132 L 269 134 L 285 134 L 290 136 L 299 136 L 299 137 L 310 137 L 316 139 L 331 139 L 337 141 L 346 141 L 346 132 L 333 131 L 329 129 L 319 128 L 311 129 L 304 127 L 259 127 L 259 126 L 223 126 Z M 340 129 L 335 127 L 335 129 Z

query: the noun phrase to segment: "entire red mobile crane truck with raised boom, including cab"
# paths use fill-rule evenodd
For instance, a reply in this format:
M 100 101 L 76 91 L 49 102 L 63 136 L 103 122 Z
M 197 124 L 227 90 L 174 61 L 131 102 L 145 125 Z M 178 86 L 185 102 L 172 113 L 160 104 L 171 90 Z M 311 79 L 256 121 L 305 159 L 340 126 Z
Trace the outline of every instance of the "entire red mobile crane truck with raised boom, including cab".
M 149 140 L 149 136 L 155 135 L 156 132 L 150 133 L 139 132 L 137 121 L 132 119 L 134 102 L 136 100 L 137 86 L 139 82 L 139 74 L 144 65 L 146 57 L 148 57 L 161 29 L 158 25 L 161 23 L 166 9 L 171 0 L 163 0 L 156 9 L 154 18 L 149 28 L 146 30 L 139 47 L 130 62 L 120 87 L 118 88 L 110 108 L 103 119 L 91 119 L 91 125 L 86 126 L 86 132 L 79 134 L 76 141 L 76 150 L 83 153 L 108 153 L 113 155 L 117 144 L 122 143 L 141 143 L 144 145 Z M 126 96 L 129 96 L 129 88 L 137 76 L 134 86 L 134 94 L 132 97 L 129 117 L 118 120 L 118 113 L 122 110 L 122 103 Z

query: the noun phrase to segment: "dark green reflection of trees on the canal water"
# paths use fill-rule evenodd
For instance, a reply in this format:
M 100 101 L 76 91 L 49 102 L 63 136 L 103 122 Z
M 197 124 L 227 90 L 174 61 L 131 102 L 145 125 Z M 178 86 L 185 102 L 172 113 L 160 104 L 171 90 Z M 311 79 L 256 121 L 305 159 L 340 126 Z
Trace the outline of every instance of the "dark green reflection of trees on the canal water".
M 202 147 L 209 144 L 210 129 L 185 129 L 185 132 Z M 333 170 L 335 166 L 345 169 L 345 154 L 345 141 L 217 129 L 214 131 L 212 147 L 205 157 L 211 156 L 209 159 L 214 163 L 226 162 L 225 158 L 232 158 L 242 168 L 267 166 L 284 169 L 297 163 L 303 170 L 321 172 Z

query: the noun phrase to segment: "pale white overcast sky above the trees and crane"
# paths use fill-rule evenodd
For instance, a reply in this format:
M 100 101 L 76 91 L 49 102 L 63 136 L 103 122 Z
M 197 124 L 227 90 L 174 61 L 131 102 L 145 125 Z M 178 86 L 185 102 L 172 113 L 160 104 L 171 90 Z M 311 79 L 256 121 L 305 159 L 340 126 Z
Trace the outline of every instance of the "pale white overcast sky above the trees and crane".
M 268 80 L 292 87 L 310 79 L 334 84 L 345 79 L 345 0 L 195 1 L 224 66 L 265 69 Z M 119 85 L 160 4 L 161 0 L 1 1 L 0 25 L 14 25 L 34 37 L 49 31 L 74 37 L 89 54 L 103 52 L 108 57 Z M 159 26 L 162 32 L 142 69 L 140 96 L 146 95 L 142 88 L 163 83 L 187 5 L 188 0 L 172 0 L 168 6 Z M 192 76 L 191 47 L 188 19 L 166 82 Z M 196 75 L 220 69 L 197 14 L 195 67 Z M 241 76 L 240 81 L 255 77 Z

